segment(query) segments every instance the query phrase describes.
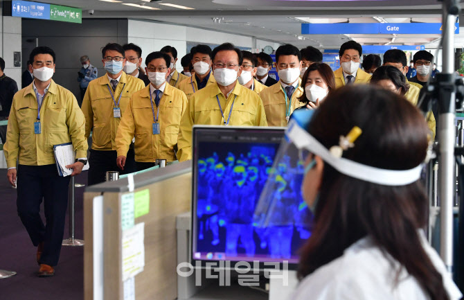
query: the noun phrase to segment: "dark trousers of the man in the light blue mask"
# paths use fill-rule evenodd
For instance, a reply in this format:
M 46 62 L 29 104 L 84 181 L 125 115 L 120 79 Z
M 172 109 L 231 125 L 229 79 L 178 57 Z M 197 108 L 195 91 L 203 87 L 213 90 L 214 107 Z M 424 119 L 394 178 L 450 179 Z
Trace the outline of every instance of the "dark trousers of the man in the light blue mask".
M 117 157 L 118 153 L 116 150 L 90 150 L 89 186 L 105 182 L 105 175 L 108 171 L 118 171 L 121 175 L 134 173 L 136 171 L 134 149 L 130 148 L 129 151 L 127 151 L 124 170 L 121 170 L 116 165 Z

